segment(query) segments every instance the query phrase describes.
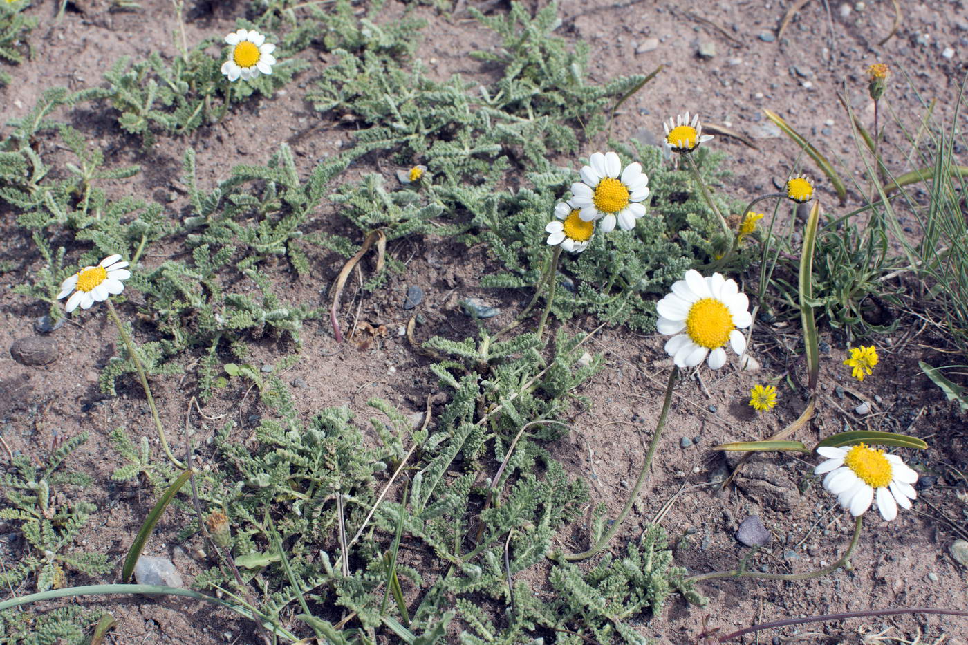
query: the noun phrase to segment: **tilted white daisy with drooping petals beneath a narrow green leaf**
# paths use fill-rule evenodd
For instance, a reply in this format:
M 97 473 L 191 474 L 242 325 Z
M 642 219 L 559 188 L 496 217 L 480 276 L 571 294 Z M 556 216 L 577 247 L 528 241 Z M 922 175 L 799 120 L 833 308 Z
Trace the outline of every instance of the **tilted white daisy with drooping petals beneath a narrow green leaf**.
M 827 473 L 824 488 L 836 495 L 840 507 L 850 509 L 854 517 L 876 500 L 881 516 L 890 521 L 897 517 L 898 506 L 910 508 L 911 500 L 918 497 L 912 485 L 918 474 L 897 455 L 863 444 L 826 445 L 817 448 L 817 452 L 827 461 L 813 469 L 814 474 Z

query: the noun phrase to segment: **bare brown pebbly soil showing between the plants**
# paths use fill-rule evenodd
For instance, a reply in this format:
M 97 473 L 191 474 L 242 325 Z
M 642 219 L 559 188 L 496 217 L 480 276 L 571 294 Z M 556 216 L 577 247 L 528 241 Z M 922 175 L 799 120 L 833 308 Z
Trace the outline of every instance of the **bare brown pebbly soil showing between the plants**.
M 490 11 L 506 9 L 487 4 Z M 852 104 L 859 108 L 862 119 L 869 119 L 864 70 L 872 62 L 888 62 L 896 71 L 888 104 L 902 122 L 917 124 L 923 104 L 931 99 L 937 99 L 939 118 L 950 122 L 968 60 L 965 3 L 902 2 L 903 19 L 884 46 L 878 43 L 891 33 L 894 19 L 888 0 L 832 0 L 829 11 L 825 2 L 809 2 L 783 38 L 776 41 L 773 34 L 788 6 L 763 0 L 709 6 L 654 0 L 620 4 L 565 1 L 560 4 L 562 24 L 558 33 L 589 44 L 590 77 L 595 82 L 620 74 L 649 73 L 663 66 L 655 81 L 621 107 L 612 125 L 613 138 L 655 142 L 661 137 L 664 118 L 697 108 L 705 120 L 752 138 L 756 149 L 735 138 L 714 140 L 733 160 L 730 168 L 736 173 L 735 185 L 729 190 L 738 199 L 771 191 L 771 184 L 785 179 L 797 155 L 789 139 L 768 125 L 762 108 L 784 116 L 832 159 L 860 176 L 856 144 L 836 95 L 846 83 Z M 134 12 L 109 12 L 105 0 L 69 7 L 72 10 L 61 20 L 54 19 L 56 5 L 52 2 L 37 2 L 29 10 L 41 19 L 30 36 L 36 56 L 6 68 L 15 82 L 0 88 L 5 121 L 26 113 L 52 84 L 74 90 L 99 85 L 102 72 L 119 56 L 139 59 L 154 50 L 166 56 L 174 53 L 168 34 L 176 22 L 166 0 L 144 0 Z M 387 19 L 405 11 L 400 4 L 390 3 L 388 7 Z M 192 8 L 187 23 L 189 41 L 228 33 L 243 11 L 241 2 Z M 438 15 L 426 6 L 414 6 L 410 11 L 430 21 L 418 55 L 436 75 L 444 78 L 459 72 L 473 77 L 485 73 L 467 52 L 495 46 L 496 37 L 460 13 Z M 700 46 L 713 55 L 701 57 Z M 946 51 L 949 48 L 953 50 L 950 56 Z M 314 66 L 326 65 L 326 55 L 317 53 L 311 48 L 302 55 Z M 256 108 L 240 111 L 218 126 L 202 128 L 192 137 L 161 138 L 149 153 L 141 152 L 136 140 L 118 130 L 109 107 L 85 107 L 93 111 L 76 116 L 75 125 L 91 140 L 100 142 L 109 165 L 136 163 L 142 167 L 139 175 L 123 184 L 123 190 L 136 190 L 143 198 L 160 200 L 166 204 L 166 211 L 177 217 L 186 205 L 184 197 L 175 195 L 168 203 L 166 196 L 181 174 L 180 159 L 188 145 L 198 150 L 198 178 L 205 186 L 225 178 L 235 163 L 264 162 L 266 151 L 281 140 L 290 143 L 297 164 L 306 171 L 320 157 L 340 148 L 348 133 L 332 123 L 319 123 L 318 113 L 302 99 L 302 89 L 314 75 L 314 69 L 301 73 L 285 94 L 261 100 Z M 0 128 L 0 134 L 9 133 L 8 127 Z M 899 131 L 889 128 L 887 142 L 896 154 L 887 157 L 893 160 L 894 172 L 911 168 L 903 162 L 901 153 L 907 150 L 902 140 Z M 584 153 L 604 149 L 605 145 L 605 136 L 599 136 L 584 145 Z M 805 169 L 817 176 L 809 164 Z M 382 170 L 388 177 L 393 171 Z M 839 208 L 824 181 L 820 182 L 819 199 L 825 209 Z M 848 207 L 858 202 L 855 193 Z M 335 210 L 324 209 L 320 218 L 325 217 L 335 218 Z M 318 224 L 324 225 L 325 220 Z M 0 278 L 0 340 L 4 348 L 9 348 L 16 339 L 33 335 L 34 321 L 44 313 L 43 305 L 10 289 L 28 280 L 42 260 L 32 254 L 29 233 L 16 227 L 6 206 L 0 206 L 0 235 L 0 261 L 12 262 L 15 267 Z M 411 314 L 403 309 L 408 286 L 420 286 L 425 292 L 418 311 L 427 322 L 417 329 L 420 338 L 434 334 L 454 339 L 472 336 L 474 325 L 459 313 L 457 304 L 464 297 L 478 296 L 500 307 L 503 315 L 488 322 L 490 328 L 497 329 L 530 295 L 480 288 L 479 277 L 495 268 L 482 247 L 467 249 L 432 237 L 407 238 L 392 244 L 388 252 L 405 261 L 407 271 L 393 276 L 387 287 L 373 295 L 354 292 L 356 287 L 350 283 L 343 310 L 347 315 L 344 320 L 351 320 L 358 311 L 360 320 L 387 325 L 390 336 L 366 352 L 335 353 L 340 348 L 328 323 L 309 323 L 303 332 L 300 360 L 285 377 L 296 388 L 302 413 L 348 405 L 365 419 L 366 401 L 375 396 L 405 412 L 422 411 L 424 397 L 437 385 L 426 369 L 427 359 L 414 353 L 406 338 L 396 335 Z M 148 254 L 143 263 L 151 266 L 164 260 Z M 298 282 L 282 266 L 270 269 L 283 297 L 314 306 L 322 303 L 342 262 L 325 252 L 314 261 L 313 281 Z M 751 352 L 763 364 L 763 374 L 790 369 L 783 356 L 789 355 L 787 348 L 796 347 L 797 330 L 760 325 Z M 595 323 L 576 319 L 567 326 L 577 333 L 589 331 Z M 28 455 L 44 454 L 55 437 L 91 433 L 91 440 L 69 461 L 70 468 L 95 477 L 95 484 L 84 491 L 84 496 L 99 509 L 78 544 L 86 550 L 107 553 L 119 563 L 119 571 L 153 499 L 149 488 L 110 480 L 110 473 L 122 462 L 108 445 L 107 434 L 116 427 L 126 427 L 134 434 L 153 436 L 151 419 L 136 380 L 124 380 L 117 397 L 106 397 L 98 388 L 98 371 L 115 353 L 116 332 L 106 316 L 85 315 L 65 324 L 52 337 L 61 353 L 42 367 L 21 365 L 6 351 L 0 354 L 0 433 L 10 450 Z M 827 351 L 821 354 L 821 412 L 794 438 L 809 444 L 840 431 L 845 424 L 852 429 L 888 430 L 923 438 L 931 445 L 928 450 L 905 454 L 923 473 L 914 510 L 902 511 L 891 523 L 875 512 L 868 513 L 850 571 L 838 570 L 802 583 L 713 581 L 701 587 L 711 599 L 707 608 L 690 607 L 681 600 L 671 602 L 663 615 L 651 622 L 643 620 L 643 634 L 660 643 L 693 643 L 707 616 L 709 625 L 721 627 L 720 633 L 724 633 L 757 622 L 810 614 L 916 606 L 963 609 L 968 604 L 966 569 L 950 552 L 953 540 L 965 537 L 968 531 L 966 481 L 958 475 L 968 464 L 964 417 L 918 368 L 919 360 L 934 364 L 957 361 L 942 357 L 934 349 L 943 344 L 929 325 L 904 317 L 895 333 L 877 339 L 882 363 L 873 376 L 858 384 L 850 380 L 841 364 L 844 338 L 825 330 L 824 340 Z M 582 392 L 590 397 L 591 410 L 568 419 L 571 430 L 567 439 L 554 446 L 555 456 L 573 475 L 590 480 L 592 499 L 605 501 L 613 516 L 637 474 L 661 406 L 668 369 L 663 343 L 660 336 L 623 328 L 597 333 L 589 341 L 588 350 L 604 353 L 607 364 Z M 251 362 L 274 363 L 289 349 L 267 342 L 254 348 Z M 759 515 L 773 535 L 771 544 L 756 556 L 754 567 L 796 572 L 835 560 L 849 541 L 851 521 L 809 475 L 815 460 L 763 457 L 746 467 L 735 486 L 720 490 L 715 485 L 728 464 L 721 453 L 709 449 L 711 445 L 768 436 L 800 415 L 804 402 L 788 387 L 781 387 L 777 408 L 771 415 L 758 416 L 746 405 L 746 392 L 752 384 L 764 380 L 762 375 L 730 368 L 716 373 L 701 371 L 700 375 L 701 379 L 689 378 L 678 389 L 650 484 L 620 537 L 637 537 L 663 504 L 679 493 L 677 503 L 661 523 L 676 545 L 677 563 L 690 572 L 735 567 L 745 552 L 736 539 L 736 529 L 749 515 Z M 184 377 L 154 380 L 163 418 L 184 417 L 193 378 L 189 370 Z M 212 419 L 207 429 L 213 432 L 219 426 L 218 419 L 228 416 L 236 416 L 243 428 L 251 427 L 250 415 L 258 412 L 252 397 L 245 399 L 242 390 L 227 389 L 203 408 L 204 415 Z M 871 414 L 854 412 L 862 401 L 871 403 Z M 689 441 L 683 441 L 686 439 Z M 0 462 L 6 460 L 6 454 L 0 452 Z M 145 552 L 172 558 L 182 574 L 191 579 L 210 565 L 192 555 L 198 544 L 173 541 L 186 521 L 177 514 L 166 516 Z M 24 548 L 23 540 L 12 531 L 12 527 L 0 523 L 0 557 L 7 562 L 15 561 Z M 571 539 L 569 546 L 584 547 L 587 536 L 576 527 Z M 102 582 L 116 581 L 119 573 L 114 575 Z M 69 578 L 70 584 L 92 582 L 98 581 L 77 574 Z M 33 589 L 14 591 L 20 595 Z M 227 613 L 213 615 L 207 606 L 182 599 L 110 598 L 85 603 L 105 608 L 118 620 L 109 642 L 255 642 L 251 627 L 244 621 Z M 876 634 L 887 640 L 864 640 Z M 852 619 L 763 632 L 741 642 L 769 643 L 771 638 L 772 642 L 804 643 L 968 643 L 968 623 L 924 615 Z

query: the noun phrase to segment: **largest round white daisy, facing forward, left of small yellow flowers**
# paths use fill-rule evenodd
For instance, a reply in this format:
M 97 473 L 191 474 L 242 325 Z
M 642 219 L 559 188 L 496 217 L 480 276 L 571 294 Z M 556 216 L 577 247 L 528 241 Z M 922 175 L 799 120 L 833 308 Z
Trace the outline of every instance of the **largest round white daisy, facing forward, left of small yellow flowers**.
M 660 334 L 679 334 L 665 344 L 678 367 L 695 367 L 709 354 L 710 367 L 717 370 L 726 364 L 727 343 L 738 354 L 746 349 L 740 329 L 753 322 L 748 309 L 749 298 L 735 280 L 719 273 L 704 278 L 689 269 L 655 305 L 659 314 L 655 328 Z M 680 333 L 683 329 L 685 333 Z

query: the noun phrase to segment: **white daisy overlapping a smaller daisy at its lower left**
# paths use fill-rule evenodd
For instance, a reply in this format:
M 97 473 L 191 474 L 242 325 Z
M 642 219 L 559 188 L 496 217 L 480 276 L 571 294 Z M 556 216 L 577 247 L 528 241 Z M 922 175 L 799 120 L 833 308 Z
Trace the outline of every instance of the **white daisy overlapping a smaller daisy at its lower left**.
M 570 203 L 580 209 L 586 222 L 601 220 L 599 229 L 612 232 L 616 221 L 622 230 L 635 228 L 635 221 L 646 214 L 642 202 L 649 199 L 649 177 L 642 164 L 629 164 L 621 169 L 614 152 L 591 155 L 590 166 L 581 169 L 582 180 L 571 185 L 574 197 Z

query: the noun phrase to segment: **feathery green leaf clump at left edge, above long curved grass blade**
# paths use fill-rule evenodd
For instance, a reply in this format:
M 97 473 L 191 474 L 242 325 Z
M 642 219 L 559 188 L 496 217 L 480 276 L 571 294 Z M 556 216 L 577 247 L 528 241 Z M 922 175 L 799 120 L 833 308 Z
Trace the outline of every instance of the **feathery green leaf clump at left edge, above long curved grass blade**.
M 89 502 L 66 502 L 54 491 L 58 486 L 90 485 L 91 477 L 82 473 L 55 472 L 87 439 L 85 432 L 67 440 L 51 451 L 41 467 L 25 455 L 15 455 L 15 474 L 0 475 L 0 488 L 8 505 L 0 508 L 0 519 L 18 522 L 26 540 L 25 552 L 15 566 L 0 573 L 0 584 L 4 587 L 15 587 L 27 577 L 35 576 L 37 591 L 46 591 L 67 585 L 65 569 L 89 576 L 110 570 L 104 553 L 67 552 L 97 508 Z

